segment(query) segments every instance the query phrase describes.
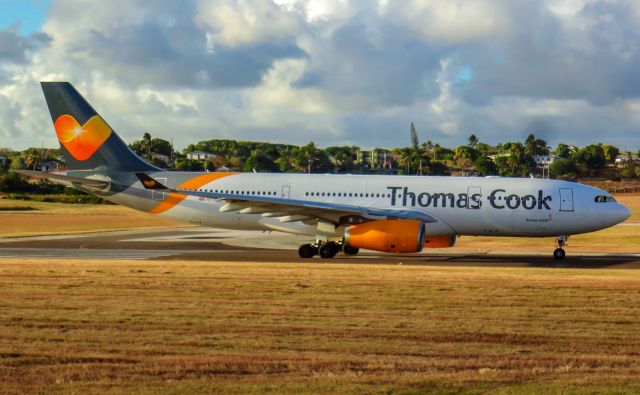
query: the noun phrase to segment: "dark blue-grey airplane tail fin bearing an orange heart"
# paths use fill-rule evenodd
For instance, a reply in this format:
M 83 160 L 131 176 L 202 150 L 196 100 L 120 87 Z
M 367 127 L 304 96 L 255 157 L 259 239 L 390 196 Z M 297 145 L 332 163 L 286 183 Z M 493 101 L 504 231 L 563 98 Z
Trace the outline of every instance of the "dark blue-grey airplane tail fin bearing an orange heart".
M 41 82 L 69 170 L 157 171 L 68 82 Z

